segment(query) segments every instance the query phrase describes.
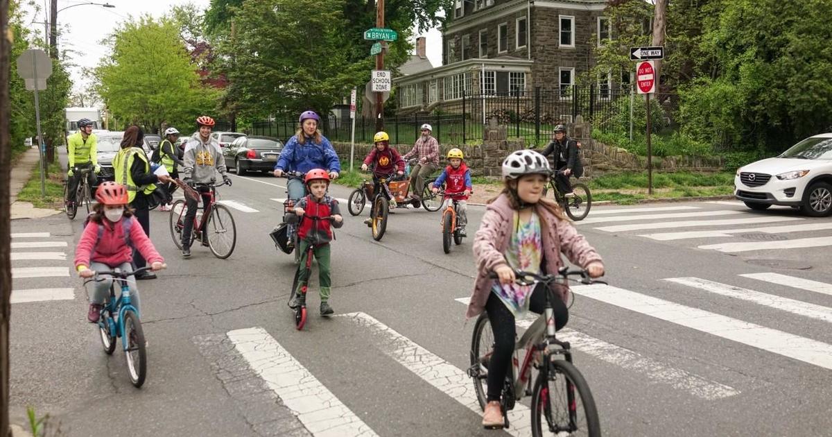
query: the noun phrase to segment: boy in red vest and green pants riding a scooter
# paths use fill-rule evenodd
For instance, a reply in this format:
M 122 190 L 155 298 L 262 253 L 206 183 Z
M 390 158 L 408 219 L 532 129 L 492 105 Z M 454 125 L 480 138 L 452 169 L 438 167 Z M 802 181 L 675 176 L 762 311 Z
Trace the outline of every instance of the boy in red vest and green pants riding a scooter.
M 298 223 L 299 246 L 295 251 L 300 251 L 300 262 L 298 263 L 298 286 L 295 289 L 295 299 L 290 306 L 297 308 L 306 296 L 300 294 L 301 287 L 305 286 L 310 279 L 310 271 L 306 269 L 306 256 L 310 246 L 313 247 L 312 255 L 318 260 L 318 284 L 320 286 L 320 315 L 330 315 L 335 311 L 329 306 L 329 293 L 332 280 L 329 277 L 329 241 L 332 241 L 331 227 L 339 228 L 344 226 L 344 218 L 338 207 L 338 201 L 327 196 L 329 189 L 329 174 L 320 168 L 315 168 L 306 173 L 304 178 L 306 190 L 309 195 L 303 197 L 295 204 L 295 214 L 300 217 Z M 331 220 L 327 218 L 331 216 Z M 305 303 L 305 302 L 303 302 Z

